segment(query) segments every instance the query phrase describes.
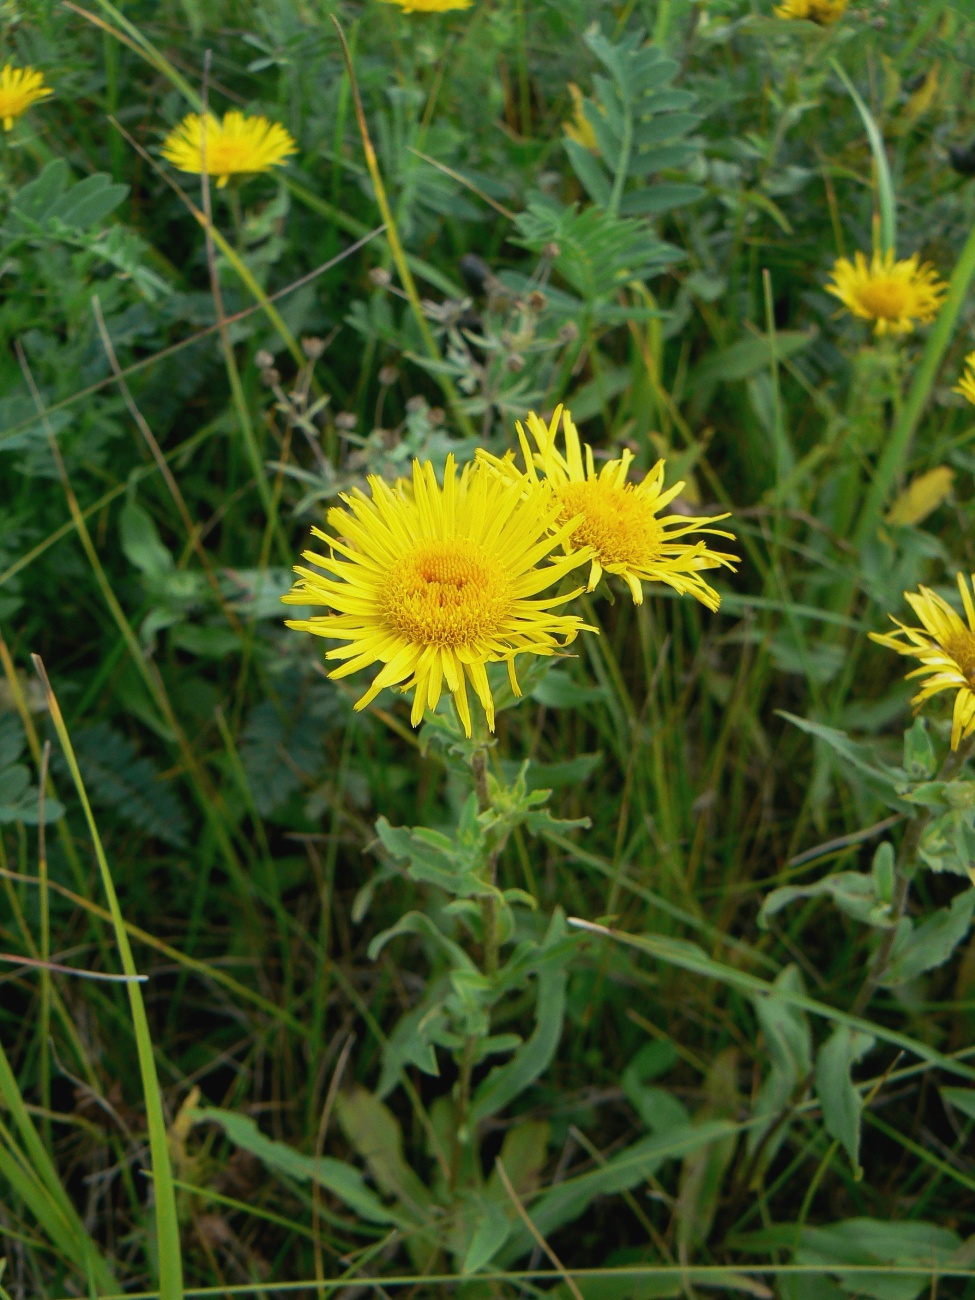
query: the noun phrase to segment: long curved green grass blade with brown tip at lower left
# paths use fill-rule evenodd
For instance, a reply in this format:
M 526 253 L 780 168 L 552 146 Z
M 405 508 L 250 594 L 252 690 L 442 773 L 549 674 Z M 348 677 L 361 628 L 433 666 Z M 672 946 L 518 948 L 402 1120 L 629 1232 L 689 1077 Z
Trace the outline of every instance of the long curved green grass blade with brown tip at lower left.
M 61 750 L 64 753 L 65 762 L 68 763 L 68 770 L 72 774 L 74 788 L 78 793 L 78 798 L 81 800 L 84 820 L 88 826 L 88 833 L 91 835 L 92 848 L 95 849 L 95 858 L 99 864 L 101 887 L 105 892 L 105 897 L 108 898 L 108 909 L 112 915 L 112 928 L 114 931 L 118 956 L 122 961 L 122 970 L 129 976 L 129 1008 L 131 1010 L 133 1024 L 135 1028 L 135 1046 L 139 1057 L 142 1089 L 146 1098 L 146 1121 L 150 1135 L 152 1182 L 155 1187 L 156 1238 L 159 1249 L 159 1295 L 160 1300 L 182 1300 L 183 1266 L 182 1251 L 179 1248 L 179 1221 L 176 1209 L 173 1170 L 169 1162 L 169 1143 L 166 1138 L 166 1121 L 162 1112 L 162 1095 L 159 1086 L 159 1075 L 156 1074 L 156 1058 L 152 1050 L 152 1036 L 150 1034 L 150 1022 L 146 1015 L 146 1004 L 142 997 L 142 989 L 135 982 L 138 971 L 135 968 L 133 950 L 129 944 L 129 933 L 125 927 L 122 909 L 118 905 L 118 896 L 116 894 L 116 887 L 112 880 L 112 871 L 108 866 L 108 858 L 105 857 L 105 850 L 101 844 L 101 836 L 99 835 L 95 815 L 91 811 L 91 803 L 88 802 L 84 780 L 82 777 L 81 768 L 78 767 L 78 759 L 74 754 L 74 746 L 72 745 L 72 738 L 68 734 L 68 728 L 65 727 L 57 697 L 51 686 L 40 655 L 31 655 L 31 659 L 34 660 L 34 667 L 36 668 L 38 676 L 40 677 L 40 682 L 44 688 L 44 698 L 47 699 L 47 706 L 51 712 L 51 720 L 55 724 L 55 731 L 57 732 L 57 738 L 61 742 Z

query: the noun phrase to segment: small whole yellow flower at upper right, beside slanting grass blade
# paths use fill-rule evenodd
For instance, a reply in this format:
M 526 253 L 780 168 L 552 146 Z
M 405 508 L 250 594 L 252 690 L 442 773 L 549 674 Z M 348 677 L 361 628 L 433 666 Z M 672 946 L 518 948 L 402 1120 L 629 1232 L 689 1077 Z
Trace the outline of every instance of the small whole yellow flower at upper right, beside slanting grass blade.
M 827 292 L 861 320 L 875 321 L 876 334 L 907 334 L 915 321 L 933 320 L 948 287 L 930 263 L 919 264 L 916 254 L 896 261 L 893 248 L 875 252 L 870 265 L 862 252 L 854 261 L 837 257 L 831 274 Z

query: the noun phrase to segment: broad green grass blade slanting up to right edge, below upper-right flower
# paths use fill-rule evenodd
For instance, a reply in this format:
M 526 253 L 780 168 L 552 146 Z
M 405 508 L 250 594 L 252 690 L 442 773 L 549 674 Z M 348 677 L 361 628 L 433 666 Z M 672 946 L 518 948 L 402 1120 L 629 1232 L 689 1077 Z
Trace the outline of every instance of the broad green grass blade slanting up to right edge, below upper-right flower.
M 863 510 L 857 520 L 857 529 L 853 534 L 853 541 L 859 549 L 874 536 L 880 512 L 906 464 L 914 430 L 931 396 L 939 367 L 952 342 L 958 313 L 962 309 L 962 303 L 974 277 L 975 225 L 968 231 L 965 247 L 961 251 L 958 261 L 954 264 L 952 278 L 948 282 L 948 294 L 924 343 L 920 360 L 915 367 L 907 398 L 874 471 L 874 477 L 867 489 L 867 499 L 863 503 Z

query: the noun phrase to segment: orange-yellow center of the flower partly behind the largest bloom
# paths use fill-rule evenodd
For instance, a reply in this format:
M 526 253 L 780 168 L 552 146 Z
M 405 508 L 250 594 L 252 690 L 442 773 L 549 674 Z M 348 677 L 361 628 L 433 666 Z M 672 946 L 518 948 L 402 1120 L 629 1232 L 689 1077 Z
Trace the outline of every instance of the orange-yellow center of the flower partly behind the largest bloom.
M 627 484 L 614 488 L 598 478 L 559 488 L 563 521 L 582 516 L 572 534 L 592 546 L 601 564 L 650 564 L 660 554 L 663 529 L 650 502 Z

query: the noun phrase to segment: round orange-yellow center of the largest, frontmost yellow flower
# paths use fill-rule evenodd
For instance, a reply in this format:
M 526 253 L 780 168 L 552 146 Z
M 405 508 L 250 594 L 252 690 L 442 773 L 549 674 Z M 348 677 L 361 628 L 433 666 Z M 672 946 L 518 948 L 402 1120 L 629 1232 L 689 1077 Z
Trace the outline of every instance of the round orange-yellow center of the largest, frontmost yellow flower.
M 386 624 L 413 645 L 464 646 L 500 630 L 507 573 L 473 542 L 425 542 L 391 569 L 380 593 Z

